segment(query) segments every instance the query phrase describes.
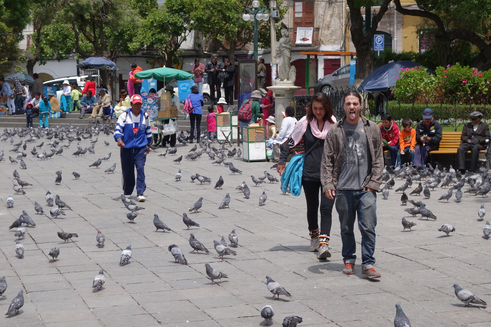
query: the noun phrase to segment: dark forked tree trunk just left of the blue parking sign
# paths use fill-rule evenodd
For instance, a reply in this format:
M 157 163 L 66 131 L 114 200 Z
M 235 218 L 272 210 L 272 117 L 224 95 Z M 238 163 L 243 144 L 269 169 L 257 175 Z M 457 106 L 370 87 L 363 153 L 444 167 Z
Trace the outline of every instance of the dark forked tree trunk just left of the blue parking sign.
M 391 0 L 347 0 L 350 7 L 351 18 L 351 40 L 356 48 L 356 75 L 355 88 L 372 72 L 373 63 L 373 48 L 372 40 L 379 26 L 379 22 L 388 9 L 388 4 Z M 363 30 L 363 16 L 361 16 L 361 8 L 373 5 L 379 5 L 379 12 L 372 18 L 372 26 L 365 33 Z M 370 14 L 371 15 L 371 14 Z

